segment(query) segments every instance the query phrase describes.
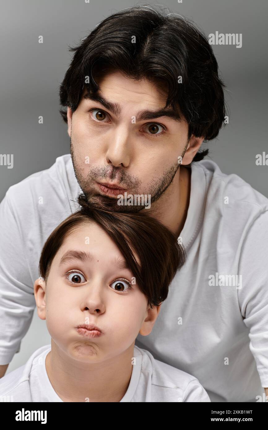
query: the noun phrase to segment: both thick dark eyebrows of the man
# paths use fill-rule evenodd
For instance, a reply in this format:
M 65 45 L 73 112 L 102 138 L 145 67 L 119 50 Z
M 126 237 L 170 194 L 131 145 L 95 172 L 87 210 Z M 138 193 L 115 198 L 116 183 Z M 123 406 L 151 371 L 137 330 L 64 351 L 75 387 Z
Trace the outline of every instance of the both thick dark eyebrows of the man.
M 84 95 L 86 100 L 98 101 L 102 106 L 106 107 L 108 111 L 111 111 L 112 114 L 119 117 L 122 112 L 122 106 L 118 103 L 113 103 L 111 101 L 106 100 L 104 97 L 99 95 L 98 93 Z M 182 122 L 182 117 L 179 112 L 173 111 L 172 109 L 159 109 L 158 111 L 139 111 L 136 114 L 136 121 L 144 121 L 144 120 L 153 120 L 154 118 L 160 117 L 168 117 L 174 121 Z

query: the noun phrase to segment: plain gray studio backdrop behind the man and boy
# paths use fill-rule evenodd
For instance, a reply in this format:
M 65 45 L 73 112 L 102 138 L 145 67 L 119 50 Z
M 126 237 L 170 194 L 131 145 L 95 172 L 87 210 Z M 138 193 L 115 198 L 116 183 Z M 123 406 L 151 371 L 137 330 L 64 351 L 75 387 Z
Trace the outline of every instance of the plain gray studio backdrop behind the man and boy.
M 0 200 L 6 190 L 69 153 L 67 125 L 59 109 L 59 84 L 77 46 L 100 21 L 135 5 L 129 0 L 1 1 L 0 154 L 14 154 L 14 167 L 0 166 Z M 160 3 L 190 18 L 205 34 L 242 33 L 242 47 L 215 45 L 213 51 L 227 91 L 230 123 L 217 139 L 203 144 L 222 172 L 235 173 L 268 197 L 268 166 L 256 154 L 268 153 L 267 2 L 256 0 L 177 0 Z M 167 13 L 169 13 L 167 12 Z M 43 44 L 38 36 L 43 35 Z M 42 115 L 44 123 L 38 124 Z M 46 322 L 35 310 L 31 327 L 6 373 L 25 364 L 38 347 L 49 344 Z

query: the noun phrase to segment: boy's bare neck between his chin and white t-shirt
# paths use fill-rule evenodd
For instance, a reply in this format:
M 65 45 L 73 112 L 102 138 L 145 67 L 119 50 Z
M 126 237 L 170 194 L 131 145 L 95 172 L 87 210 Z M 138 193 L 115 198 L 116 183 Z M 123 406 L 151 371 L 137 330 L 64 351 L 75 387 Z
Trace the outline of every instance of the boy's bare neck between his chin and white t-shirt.
M 134 344 L 117 356 L 90 363 L 70 359 L 52 339 L 45 362 L 49 381 L 64 402 L 120 402 L 132 375 Z

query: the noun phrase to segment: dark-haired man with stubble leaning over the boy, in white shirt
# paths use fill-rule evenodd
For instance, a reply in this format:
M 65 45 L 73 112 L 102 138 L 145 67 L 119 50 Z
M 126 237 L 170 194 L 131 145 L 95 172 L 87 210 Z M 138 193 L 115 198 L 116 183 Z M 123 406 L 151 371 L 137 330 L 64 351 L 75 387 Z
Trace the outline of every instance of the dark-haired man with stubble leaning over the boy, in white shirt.
M 211 46 L 183 18 L 135 7 L 72 50 L 60 89 L 71 158 L 13 185 L 0 204 L 2 375 L 31 323 L 43 243 L 82 190 L 96 206 L 150 213 L 185 248 L 137 346 L 194 375 L 212 402 L 255 402 L 268 387 L 268 199 L 198 152 L 225 119 Z M 119 205 L 125 193 L 151 206 Z

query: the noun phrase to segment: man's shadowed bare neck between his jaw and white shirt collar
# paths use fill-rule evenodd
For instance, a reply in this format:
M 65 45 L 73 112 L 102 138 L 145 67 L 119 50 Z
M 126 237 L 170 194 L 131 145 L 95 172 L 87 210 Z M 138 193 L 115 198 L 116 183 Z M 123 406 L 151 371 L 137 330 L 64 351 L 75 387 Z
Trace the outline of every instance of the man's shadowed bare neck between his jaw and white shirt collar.
M 181 165 L 166 192 L 152 204 L 151 209 L 143 212 L 156 218 L 179 237 L 187 218 L 190 194 L 191 168 Z

